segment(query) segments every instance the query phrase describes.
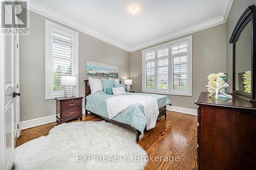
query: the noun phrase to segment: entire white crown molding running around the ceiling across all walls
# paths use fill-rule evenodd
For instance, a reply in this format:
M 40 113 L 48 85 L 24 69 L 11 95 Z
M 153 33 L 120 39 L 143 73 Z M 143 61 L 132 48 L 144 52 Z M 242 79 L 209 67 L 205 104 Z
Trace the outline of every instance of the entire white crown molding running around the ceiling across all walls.
M 226 20 L 227 20 L 229 11 L 231 9 L 232 3 L 233 3 L 233 0 L 223 1 L 221 14 L 218 17 L 203 21 L 203 22 L 198 23 L 194 26 L 190 26 L 190 27 L 187 27 L 185 29 L 182 29 L 182 30 L 179 30 L 179 31 L 176 31 L 176 32 L 173 32 L 173 33 L 166 34 L 164 36 L 152 39 L 150 41 L 147 41 L 145 43 L 141 43 L 141 44 L 138 44 L 138 45 L 135 45 L 135 46 L 125 45 L 125 44 L 123 44 L 123 43 L 121 43 L 121 42 L 119 42 L 119 41 L 117 41 L 113 38 L 105 36 L 102 33 L 98 32 L 94 29 L 91 29 L 88 26 L 82 25 L 80 22 L 77 22 L 74 19 L 71 19 L 71 18 L 69 18 L 65 15 L 62 15 L 62 14 L 58 13 L 58 12 L 55 12 L 54 10 L 51 10 L 51 9 L 33 1 L 33 0 L 28 0 L 28 7 L 27 8 L 29 10 L 33 11 L 33 12 L 36 12 L 36 13 L 38 13 L 40 15 L 43 15 L 43 16 L 46 16 L 46 17 L 48 17 L 52 20 L 55 20 L 59 23 L 62 23 L 63 25 L 66 25 L 66 26 L 68 26 L 70 28 L 73 28 L 77 31 L 83 32 L 83 33 L 88 34 L 92 37 L 95 37 L 99 40 L 102 40 L 106 43 L 117 46 L 117 47 L 119 47 L 119 48 L 121 48 L 125 51 L 133 52 L 133 51 L 136 51 L 136 50 L 141 50 L 141 49 L 143 49 L 145 47 L 148 47 L 148 46 L 151 46 L 151 45 L 156 45 L 156 44 L 159 44 L 161 42 L 169 41 L 169 40 L 172 40 L 172 39 L 175 39 L 175 38 L 178 38 L 178 37 L 182 37 L 182 36 L 185 36 L 185 35 L 188 35 L 188 34 L 191 34 L 191 33 L 195 33 L 195 32 L 198 32 L 198 31 L 201 31 L 201 30 L 204 30 L 204 29 L 207 29 L 207 28 L 214 27 L 214 26 L 220 25 L 222 23 L 225 23 Z

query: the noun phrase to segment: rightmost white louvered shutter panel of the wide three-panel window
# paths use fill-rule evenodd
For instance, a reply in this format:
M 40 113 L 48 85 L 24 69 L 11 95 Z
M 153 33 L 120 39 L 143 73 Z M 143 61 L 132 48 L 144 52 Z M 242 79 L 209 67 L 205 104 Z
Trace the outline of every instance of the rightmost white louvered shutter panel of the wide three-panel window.
M 188 83 L 188 41 L 171 45 L 172 87 L 171 91 L 187 90 Z

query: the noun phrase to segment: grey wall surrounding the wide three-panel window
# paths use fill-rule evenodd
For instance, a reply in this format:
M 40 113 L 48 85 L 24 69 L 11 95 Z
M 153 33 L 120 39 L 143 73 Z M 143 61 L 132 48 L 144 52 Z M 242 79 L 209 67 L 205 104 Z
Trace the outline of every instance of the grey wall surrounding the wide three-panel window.
M 226 24 L 191 34 L 193 38 L 193 84 L 192 96 L 168 95 L 173 106 L 196 109 L 194 104 L 201 91 L 207 91 L 207 76 L 212 72 L 226 71 Z M 168 41 L 166 41 L 168 42 Z M 141 91 L 141 53 L 130 55 L 130 78 L 132 89 Z

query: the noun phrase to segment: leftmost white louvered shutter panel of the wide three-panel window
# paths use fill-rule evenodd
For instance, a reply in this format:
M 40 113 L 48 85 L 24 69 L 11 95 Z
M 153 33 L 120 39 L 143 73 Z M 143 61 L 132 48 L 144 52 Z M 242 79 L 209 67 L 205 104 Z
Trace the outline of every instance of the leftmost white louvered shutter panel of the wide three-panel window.
M 144 89 L 155 89 L 155 51 L 144 53 Z

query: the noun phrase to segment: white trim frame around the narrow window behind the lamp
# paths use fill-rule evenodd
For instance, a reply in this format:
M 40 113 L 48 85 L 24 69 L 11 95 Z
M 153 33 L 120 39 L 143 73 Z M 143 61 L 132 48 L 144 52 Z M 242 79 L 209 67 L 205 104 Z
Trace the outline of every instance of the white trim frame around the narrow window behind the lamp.
M 77 84 L 74 88 L 75 95 L 79 94 L 79 76 L 78 76 L 78 32 L 60 26 L 55 22 L 45 20 L 45 100 L 52 100 L 59 97 L 64 97 L 64 91 L 62 94 L 52 94 L 52 55 L 51 55 L 51 27 L 59 29 L 74 35 L 74 75 L 77 78 Z

